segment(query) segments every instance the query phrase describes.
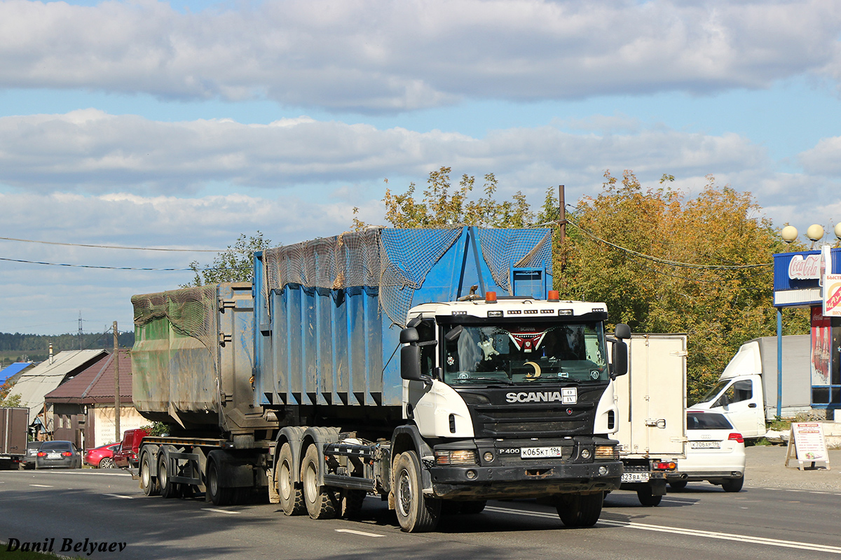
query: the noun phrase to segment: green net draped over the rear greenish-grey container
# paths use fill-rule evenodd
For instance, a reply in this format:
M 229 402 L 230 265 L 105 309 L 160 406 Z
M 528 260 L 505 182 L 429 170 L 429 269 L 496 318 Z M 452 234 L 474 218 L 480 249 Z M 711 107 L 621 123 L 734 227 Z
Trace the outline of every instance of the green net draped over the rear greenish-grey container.
M 218 285 L 202 285 L 182 290 L 161 291 L 155 294 L 132 296 L 135 307 L 135 326 L 144 327 L 156 319 L 166 318 L 172 330 L 195 338 L 207 348 L 219 372 L 219 315 Z

